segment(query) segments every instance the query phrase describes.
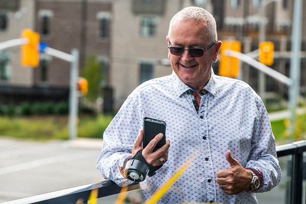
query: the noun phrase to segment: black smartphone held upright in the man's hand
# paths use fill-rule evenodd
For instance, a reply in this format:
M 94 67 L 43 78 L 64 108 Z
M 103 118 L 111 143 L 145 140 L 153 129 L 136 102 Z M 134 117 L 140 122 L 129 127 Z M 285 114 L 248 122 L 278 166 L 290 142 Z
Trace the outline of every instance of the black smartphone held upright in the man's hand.
M 166 122 L 153 118 L 143 118 L 143 148 L 160 133 L 162 133 L 164 137 L 157 143 L 153 151 L 156 151 L 166 144 Z

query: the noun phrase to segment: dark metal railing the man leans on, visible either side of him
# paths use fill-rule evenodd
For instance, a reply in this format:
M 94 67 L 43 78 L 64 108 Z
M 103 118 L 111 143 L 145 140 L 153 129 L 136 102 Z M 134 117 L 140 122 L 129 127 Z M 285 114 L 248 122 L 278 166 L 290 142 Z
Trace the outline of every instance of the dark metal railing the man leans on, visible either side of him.
M 303 197 L 303 179 L 305 179 L 305 177 L 303 177 L 303 152 L 306 151 L 306 140 L 280 145 L 276 147 L 276 150 L 277 157 L 292 156 L 292 162 L 290 162 L 290 166 L 288 167 L 291 168 L 291 187 L 289 191 L 290 195 L 288 195 L 290 196 L 289 203 L 301 204 Z M 129 186 L 129 190 L 135 190 L 138 188 L 139 184 Z M 13 200 L 3 204 L 74 204 L 79 198 L 83 198 L 85 201 L 84 203 L 87 203 L 93 189 L 98 189 L 97 198 L 103 198 L 120 193 L 121 187 L 116 185 L 114 182 L 107 180 Z

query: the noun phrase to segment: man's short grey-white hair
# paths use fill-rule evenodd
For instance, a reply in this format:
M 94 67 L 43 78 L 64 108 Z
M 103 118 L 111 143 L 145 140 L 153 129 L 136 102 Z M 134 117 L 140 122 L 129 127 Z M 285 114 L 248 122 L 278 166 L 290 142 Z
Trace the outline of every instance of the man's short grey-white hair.
M 217 40 L 218 36 L 215 18 L 208 11 L 199 7 L 186 7 L 177 12 L 170 21 L 168 36 L 171 34 L 171 28 L 174 22 L 186 19 L 195 19 L 196 21 L 199 21 L 200 19 L 203 20 L 205 23 L 203 26 L 207 27 L 209 39 L 212 41 Z

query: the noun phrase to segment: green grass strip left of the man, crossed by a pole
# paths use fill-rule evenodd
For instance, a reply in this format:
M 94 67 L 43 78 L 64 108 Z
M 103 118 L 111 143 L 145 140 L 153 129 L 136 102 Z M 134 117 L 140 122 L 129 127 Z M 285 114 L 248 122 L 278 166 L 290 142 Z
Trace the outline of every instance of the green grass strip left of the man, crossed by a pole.
M 102 138 L 112 116 L 83 116 L 78 137 Z M 67 116 L 0 117 L 1 136 L 20 139 L 50 140 L 69 138 Z

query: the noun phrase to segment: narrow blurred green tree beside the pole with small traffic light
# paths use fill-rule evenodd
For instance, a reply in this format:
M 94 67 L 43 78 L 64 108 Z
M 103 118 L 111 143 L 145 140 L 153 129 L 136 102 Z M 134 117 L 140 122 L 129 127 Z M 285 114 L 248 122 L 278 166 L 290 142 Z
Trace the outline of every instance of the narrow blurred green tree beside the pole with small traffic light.
M 82 77 L 88 81 L 88 94 L 85 96 L 89 101 L 95 101 L 101 94 L 100 82 L 104 79 L 101 64 L 96 55 L 90 55 L 83 67 Z

